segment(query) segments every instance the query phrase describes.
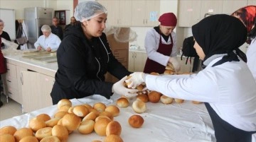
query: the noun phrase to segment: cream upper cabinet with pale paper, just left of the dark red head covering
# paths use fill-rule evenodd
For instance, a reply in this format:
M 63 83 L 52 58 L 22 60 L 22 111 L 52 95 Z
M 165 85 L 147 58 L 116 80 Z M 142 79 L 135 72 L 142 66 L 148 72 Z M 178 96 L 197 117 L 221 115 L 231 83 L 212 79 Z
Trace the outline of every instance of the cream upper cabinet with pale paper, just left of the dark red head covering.
M 132 25 L 159 25 L 160 0 L 132 0 Z

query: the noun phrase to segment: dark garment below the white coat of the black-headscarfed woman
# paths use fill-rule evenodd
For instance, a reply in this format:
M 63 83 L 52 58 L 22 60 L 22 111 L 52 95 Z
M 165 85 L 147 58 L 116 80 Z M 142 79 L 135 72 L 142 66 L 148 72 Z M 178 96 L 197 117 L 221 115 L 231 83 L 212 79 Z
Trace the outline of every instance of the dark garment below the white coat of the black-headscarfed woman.
M 252 134 L 256 131 L 243 131 L 235 128 L 221 119 L 208 102 L 205 102 L 205 105 L 213 122 L 217 142 L 252 142 Z

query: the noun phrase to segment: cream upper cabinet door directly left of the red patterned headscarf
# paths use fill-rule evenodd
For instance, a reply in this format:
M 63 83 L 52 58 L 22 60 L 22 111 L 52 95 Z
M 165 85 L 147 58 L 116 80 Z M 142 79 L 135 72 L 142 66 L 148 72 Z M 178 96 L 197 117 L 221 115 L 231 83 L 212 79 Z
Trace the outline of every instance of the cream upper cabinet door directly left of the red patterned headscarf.
M 223 0 L 223 13 L 230 15 L 244 6 L 247 6 L 247 0 Z

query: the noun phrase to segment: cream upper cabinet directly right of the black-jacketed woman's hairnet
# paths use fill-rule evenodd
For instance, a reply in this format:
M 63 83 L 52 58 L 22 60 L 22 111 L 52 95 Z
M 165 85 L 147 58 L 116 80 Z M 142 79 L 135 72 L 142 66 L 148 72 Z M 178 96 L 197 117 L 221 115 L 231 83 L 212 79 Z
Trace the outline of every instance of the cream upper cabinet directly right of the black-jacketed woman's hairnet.
M 97 0 L 107 8 L 107 25 L 129 26 L 132 24 L 132 1 Z

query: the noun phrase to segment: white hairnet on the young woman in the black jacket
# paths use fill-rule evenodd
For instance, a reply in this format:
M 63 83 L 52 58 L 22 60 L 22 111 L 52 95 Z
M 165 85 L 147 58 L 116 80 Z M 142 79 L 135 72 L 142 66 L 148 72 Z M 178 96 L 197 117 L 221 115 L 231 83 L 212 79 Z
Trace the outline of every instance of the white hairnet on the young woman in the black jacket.
M 83 22 L 102 13 L 107 13 L 107 9 L 97 1 L 82 1 L 75 7 L 74 16 L 76 20 Z

